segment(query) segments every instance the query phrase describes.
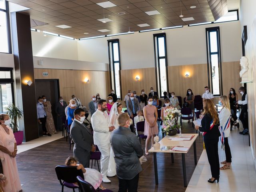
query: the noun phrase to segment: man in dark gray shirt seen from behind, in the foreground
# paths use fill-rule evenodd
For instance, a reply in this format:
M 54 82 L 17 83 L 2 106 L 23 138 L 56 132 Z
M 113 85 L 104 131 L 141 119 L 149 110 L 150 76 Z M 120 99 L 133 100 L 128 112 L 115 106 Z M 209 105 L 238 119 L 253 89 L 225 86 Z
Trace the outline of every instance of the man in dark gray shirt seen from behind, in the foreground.
M 139 173 L 142 171 L 139 158 L 143 155 L 140 142 L 130 132 L 130 117 L 127 113 L 118 116 L 119 128 L 111 134 L 111 143 L 116 162 L 119 192 L 137 192 Z

